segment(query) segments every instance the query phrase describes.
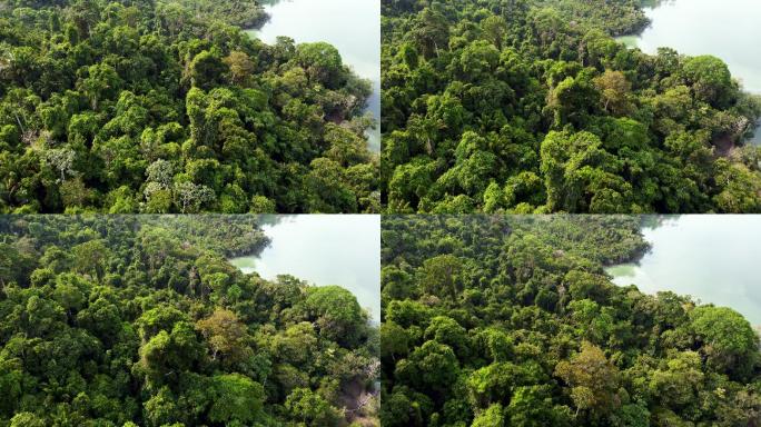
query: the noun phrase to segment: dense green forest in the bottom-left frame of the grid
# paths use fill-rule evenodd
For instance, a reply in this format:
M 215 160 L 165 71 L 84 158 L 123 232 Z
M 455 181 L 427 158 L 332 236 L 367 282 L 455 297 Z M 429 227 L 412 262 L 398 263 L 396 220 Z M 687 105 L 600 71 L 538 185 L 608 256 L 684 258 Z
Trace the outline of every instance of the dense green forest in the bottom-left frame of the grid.
M 244 275 L 256 216 L 0 217 L 0 426 L 377 426 L 349 291 Z

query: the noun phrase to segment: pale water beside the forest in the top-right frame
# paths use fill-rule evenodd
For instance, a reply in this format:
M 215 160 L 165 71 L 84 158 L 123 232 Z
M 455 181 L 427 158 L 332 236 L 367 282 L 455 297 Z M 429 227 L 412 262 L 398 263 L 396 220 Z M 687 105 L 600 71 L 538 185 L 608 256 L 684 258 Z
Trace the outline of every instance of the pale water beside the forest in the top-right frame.
M 713 54 L 747 91 L 761 95 L 761 1 L 668 0 L 645 8 L 645 14 L 651 26 L 620 40 L 648 53 L 669 47 L 690 56 Z M 761 145 L 761 127 L 752 143 Z

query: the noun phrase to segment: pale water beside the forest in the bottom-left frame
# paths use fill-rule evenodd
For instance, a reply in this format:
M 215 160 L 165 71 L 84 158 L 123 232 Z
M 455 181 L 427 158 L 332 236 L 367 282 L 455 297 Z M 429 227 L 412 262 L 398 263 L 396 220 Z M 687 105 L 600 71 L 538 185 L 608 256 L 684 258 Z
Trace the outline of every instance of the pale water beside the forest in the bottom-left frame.
M 263 224 L 271 244 L 258 257 L 230 264 L 266 279 L 287 274 L 317 286 L 338 285 L 381 321 L 379 216 L 293 215 Z

